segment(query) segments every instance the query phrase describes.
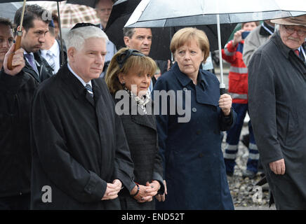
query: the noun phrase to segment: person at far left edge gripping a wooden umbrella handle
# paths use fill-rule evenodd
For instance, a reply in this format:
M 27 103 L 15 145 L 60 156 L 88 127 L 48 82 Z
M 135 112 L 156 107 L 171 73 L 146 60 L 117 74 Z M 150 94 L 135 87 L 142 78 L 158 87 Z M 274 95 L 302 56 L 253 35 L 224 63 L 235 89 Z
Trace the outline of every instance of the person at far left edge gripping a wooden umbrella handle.
M 8 69 L 8 55 L 15 47 L 12 29 L 11 21 L 0 18 L 0 210 L 27 210 L 31 178 L 29 111 L 37 83 L 22 71 L 23 49 L 13 56 L 15 69 Z

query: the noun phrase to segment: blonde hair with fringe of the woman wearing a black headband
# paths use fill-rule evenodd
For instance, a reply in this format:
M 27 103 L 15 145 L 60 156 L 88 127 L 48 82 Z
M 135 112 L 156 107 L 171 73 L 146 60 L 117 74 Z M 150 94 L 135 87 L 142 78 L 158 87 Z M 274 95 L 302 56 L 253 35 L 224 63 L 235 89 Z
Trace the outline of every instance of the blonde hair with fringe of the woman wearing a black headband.
M 112 57 L 112 60 L 107 68 L 105 82 L 111 94 L 114 94 L 118 90 L 124 89 L 124 86 L 119 82 L 119 73 L 126 74 L 128 71 L 133 69 L 135 72 L 148 73 L 152 77 L 157 70 L 157 64 L 154 62 L 154 60 L 140 52 L 139 55 L 129 56 L 123 64 L 119 65 L 118 58 L 124 55 L 127 50 L 131 49 L 121 48 L 114 55 L 114 57 Z

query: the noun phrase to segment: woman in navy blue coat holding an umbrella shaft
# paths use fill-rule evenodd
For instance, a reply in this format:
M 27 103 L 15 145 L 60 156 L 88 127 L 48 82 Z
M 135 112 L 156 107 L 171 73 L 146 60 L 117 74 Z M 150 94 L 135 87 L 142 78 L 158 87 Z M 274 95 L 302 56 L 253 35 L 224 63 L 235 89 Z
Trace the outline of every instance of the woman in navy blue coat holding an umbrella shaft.
M 180 29 L 171 52 L 176 62 L 157 80 L 153 93 L 168 192 L 157 209 L 234 209 L 220 141 L 220 132 L 235 120 L 232 98 L 220 96 L 213 73 L 199 70 L 209 54 L 204 31 Z M 161 90 L 166 90 L 166 104 Z

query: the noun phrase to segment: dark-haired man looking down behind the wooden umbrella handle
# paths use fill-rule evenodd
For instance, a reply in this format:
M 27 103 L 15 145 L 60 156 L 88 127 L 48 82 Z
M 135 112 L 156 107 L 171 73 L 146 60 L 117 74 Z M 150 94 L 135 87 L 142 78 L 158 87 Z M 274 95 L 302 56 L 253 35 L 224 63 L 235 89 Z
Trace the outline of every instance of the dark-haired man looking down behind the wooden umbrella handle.
M 20 24 L 22 7 L 15 13 L 14 22 Z M 51 77 L 53 69 L 41 57 L 39 49 L 45 42 L 45 34 L 48 32 L 49 20 L 44 20 L 46 10 L 38 5 L 26 5 L 22 23 L 21 47 L 25 50 L 25 67 L 23 71 L 29 73 L 38 83 Z

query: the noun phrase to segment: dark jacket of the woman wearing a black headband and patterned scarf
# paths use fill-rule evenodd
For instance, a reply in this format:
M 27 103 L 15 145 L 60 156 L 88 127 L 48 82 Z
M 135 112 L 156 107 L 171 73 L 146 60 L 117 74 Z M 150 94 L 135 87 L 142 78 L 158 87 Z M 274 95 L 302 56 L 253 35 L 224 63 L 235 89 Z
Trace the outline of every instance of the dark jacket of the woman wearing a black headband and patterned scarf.
M 164 193 L 163 167 L 157 141 L 157 126 L 154 115 L 140 115 L 131 113 L 132 107 L 137 110 L 134 99 L 128 96 L 128 92 L 122 91 L 125 99 L 129 101 L 129 108 L 124 108 L 124 114 L 120 116 L 131 151 L 134 163 L 135 182 L 145 186 L 146 182 L 157 180 L 161 184 L 159 193 Z M 114 95 L 113 95 L 114 98 Z M 121 99 L 115 99 L 115 102 Z M 119 105 L 119 104 L 117 104 Z M 147 106 L 150 104 L 148 103 Z M 121 195 L 122 209 L 155 209 L 154 200 L 152 202 L 138 203 L 127 190 L 123 190 Z

